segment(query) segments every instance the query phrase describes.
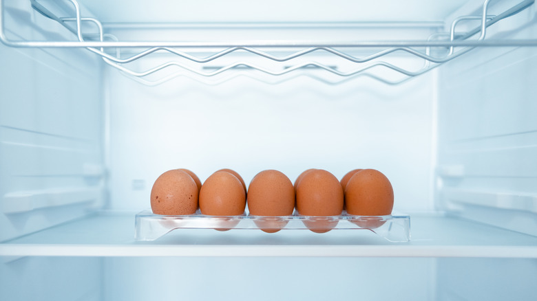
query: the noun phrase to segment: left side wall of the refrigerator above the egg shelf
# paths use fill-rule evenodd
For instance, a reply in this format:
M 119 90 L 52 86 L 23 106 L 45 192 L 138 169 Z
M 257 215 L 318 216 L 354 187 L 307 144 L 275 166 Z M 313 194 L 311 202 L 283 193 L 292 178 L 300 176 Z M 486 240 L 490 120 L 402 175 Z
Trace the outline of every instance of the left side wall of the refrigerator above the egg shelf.
M 59 30 L 30 2 L 4 12 L 10 39 Z M 103 201 L 102 101 L 98 60 L 76 49 L 0 44 L 0 241 L 87 214 Z

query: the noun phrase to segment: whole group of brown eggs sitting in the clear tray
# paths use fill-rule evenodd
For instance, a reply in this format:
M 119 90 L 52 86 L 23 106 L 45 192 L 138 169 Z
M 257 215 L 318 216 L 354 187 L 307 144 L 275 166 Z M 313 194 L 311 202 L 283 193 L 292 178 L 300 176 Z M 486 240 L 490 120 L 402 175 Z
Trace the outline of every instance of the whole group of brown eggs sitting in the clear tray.
M 297 212 L 306 216 L 348 214 L 381 216 L 391 214 L 394 194 L 390 181 L 378 170 L 355 169 L 341 181 L 322 169 L 308 169 L 294 185 L 282 172 L 264 170 L 253 177 L 249 188 L 230 169 L 213 173 L 201 183 L 190 170 L 164 172 L 151 189 L 154 214 L 187 215 L 200 212 L 213 216 L 233 216 L 248 209 L 255 216 L 286 216 Z

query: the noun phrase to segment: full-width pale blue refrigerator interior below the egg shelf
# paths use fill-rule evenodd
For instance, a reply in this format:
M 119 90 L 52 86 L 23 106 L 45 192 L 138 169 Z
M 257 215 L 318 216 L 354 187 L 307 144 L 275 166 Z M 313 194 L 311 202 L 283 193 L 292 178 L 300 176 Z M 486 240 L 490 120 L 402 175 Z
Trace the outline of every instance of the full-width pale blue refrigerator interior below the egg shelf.
M 536 270 L 522 258 L 24 257 L 3 263 L 0 298 L 535 300 Z

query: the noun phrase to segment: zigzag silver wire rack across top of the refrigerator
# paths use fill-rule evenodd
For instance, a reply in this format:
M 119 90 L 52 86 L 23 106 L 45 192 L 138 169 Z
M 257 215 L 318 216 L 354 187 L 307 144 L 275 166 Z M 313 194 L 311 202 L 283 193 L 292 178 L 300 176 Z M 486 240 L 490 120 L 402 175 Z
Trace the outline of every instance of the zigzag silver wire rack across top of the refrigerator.
M 55 16 L 54 14 L 52 14 L 52 12 L 50 12 L 49 10 L 44 8 L 43 5 L 41 5 L 36 0 L 31 0 L 32 7 L 34 7 L 34 9 L 36 9 L 38 12 L 40 12 L 44 16 L 47 16 L 50 19 L 54 19 L 55 21 L 58 21 L 59 23 L 63 24 L 65 27 L 67 27 L 67 29 L 69 29 L 72 32 L 74 32 L 74 34 L 76 34 L 76 36 L 78 37 L 78 42 L 74 42 L 74 43 L 78 43 L 78 47 L 87 47 L 87 49 L 89 49 L 89 51 L 94 52 L 94 53 L 98 54 L 99 56 L 103 57 L 103 60 L 105 60 L 105 63 L 107 63 L 109 65 L 112 65 L 112 67 L 116 67 L 117 69 L 120 69 L 120 71 L 123 71 L 125 74 L 129 74 L 130 76 L 135 76 L 137 78 L 143 78 L 143 77 L 148 76 L 150 74 L 155 74 L 156 72 L 158 72 L 158 71 L 160 71 L 162 69 L 166 69 L 168 67 L 173 67 L 173 66 L 180 67 L 180 68 L 185 69 L 187 71 L 196 73 L 196 74 L 198 74 L 200 76 L 206 76 L 206 77 L 222 74 L 224 71 L 228 71 L 230 69 L 236 69 L 238 67 L 248 67 L 250 69 L 256 69 L 258 71 L 262 71 L 265 74 L 271 74 L 273 76 L 280 76 L 280 75 L 283 75 L 283 74 L 288 74 L 291 71 L 295 71 L 295 70 L 298 70 L 298 69 L 303 69 L 305 67 L 312 67 L 313 66 L 313 67 L 316 67 L 317 69 L 324 69 L 324 70 L 329 71 L 329 72 L 331 72 L 333 74 L 336 74 L 338 76 L 344 76 L 344 77 L 356 76 L 356 75 L 359 75 L 359 74 L 368 75 L 368 76 L 370 76 L 372 78 L 375 78 L 377 80 L 385 82 L 386 84 L 389 84 L 389 85 L 398 85 L 399 83 L 408 80 L 408 78 L 423 74 L 426 71 L 429 71 L 430 69 L 432 69 L 434 67 L 437 67 L 437 65 L 440 64 L 440 63 L 445 63 L 448 60 L 452 60 L 452 59 L 454 59 L 454 58 L 456 58 L 458 56 L 461 56 L 462 54 L 465 54 L 466 52 L 470 51 L 471 49 L 474 49 L 474 47 L 476 47 L 477 45 L 480 45 L 480 44 L 487 45 L 487 44 L 483 44 L 483 41 L 485 39 L 486 29 L 487 29 L 488 26 L 496 23 L 497 21 L 500 21 L 501 19 L 507 18 L 508 16 L 512 16 L 513 14 L 516 14 L 516 13 L 524 10 L 529 5 L 534 3 L 534 0 L 525 0 L 525 1 L 522 1 L 522 2 L 518 3 L 514 7 L 510 8 L 509 10 L 506 10 L 502 14 L 498 14 L 498 16 L 489 16 L 489 15 L 487 15 L 487 10 L 488 10 L 489 2 L 491 0 L 485 0 L 485 2 L 483 3 L 483 9 L 482 9 L 481 16 L 461 16 L 461 17 L 459 17 L 459 18 L 457 18 L 457 19 L 455 19 L 453 21 L 453 23 L 452 23 L 452 25 L 450 27 L 449 40 L 448 40 L 449 43 L 446 43 L 445 41 L 432 41 L 432 38 L 429 38 L 428 41 L 426 41 L 425 43 L 423 43 L 423 41 L 422 41 L 421 43 L 423 45 L 427 45 L 426 48 L 425 48 L 425 53 L 419 52 L 416 49 L 412 49 L 410 46 L 404 46 L 404 47 L 402 47 L 402 46 L 394 46 L 394 47 L 390 47 L 388 49 L 383 49 L 380 52 L 377 52 L 375 54 L 371 54 L 370 56 L 357 58 L 355 56 L 350 56 L 350 55 L 346 54 L 345 52 L 341 52 L 341 51 L 339 51 L 337 49 L 334 49 L 333 47 L 328 47 L 326 45 L 317 45 L 317 46 L 307 47 L 306 49 L 299 50 L 298 52 L 295 52 L 293 54 L 289 54 L 287 56 L 275 56 L 273 54 L 268 54 L 267 52 L 263 52 L 260 49 L 256 49 L 252 45 L 239 45 L 239 46 L 229 46 L 229 45 L 227 45 L 227 49 L 224 49 L 224 50 L 222 50 L 220 52 L 216 52 L 215 54 L 212 54 L 212 55 L 204 57 L 204 58 L 199 58 L 197 56 L 192 56 L 191 54 L 187 54 L 186 52 L 181 52 L 178 49 L 173 49 L 173 48 L 167 47 L 167 46 L 161 46 L 161 45 L 169 44 L 169 42 L 165 42 L 165 43 L 158 43 L 159 46 L 151 47 L 151 48 L 149 48 L 149 49 L 147 49 L 147 50 L 145 50 L 143 52 L 140 52 L 139 54 L 136 54 L 134 56 L 130 56 L 129 58 L 120 58 L 119 48 L 116 48 L 116 56 L 112 56 L 110 54 L 107 54 L 104 51 L 104 47 L 107 47 L 109 45 L 113 45 L 113 46 L 122 45 L 122 47 L 140 47 L 142 45 L 147 45 L 147 43 L 144 43 L 144 42 L 128 42 L 128 43 L 123 42 L 122 43 L 122 42 L 119 42 L 119 41 L 104 41 L 105 34 L 103 34 L 103 26 L 101 25 L 101 23 L 98 20 L 93 19 L 93 18 L 83 18 L 83 17 L 81 17 L 80 6 L 76 2 L 76 0 L 67 0 L 67 1 L 70 1 L 72 3 L 72 5 L 74 6 L 74 10 L 75 10 L 75 13 L 76 13 L 75 17 L 59 18 L 58 16 Z M 2 8 L 2 0 L 0 0 L 0 8 Z M 0 27 L 0 38 L 4 43 L 6 43 L 7 39 L 3 35 L 3 19 L 1 19 L 1 18 L 2 18 L 2 16 L 0 14 L 0 26 L 1 26 Z M 464 35 L 456 37 L 456 31 L 455 31 L 456 25 L 461 21 L 465 21 L 465 20 L 469 20 L 469 19 L 479 19 L 479 20 L 481 20 L 481 25 L 479 27 L 474 28 L 474 30 L 470 30 L 469 32 L 467 32 Z M 74 29 L 66 24 L 66 22 L 72 22 L 72 21 L 76 22 L 76 28 L 74 28 Z M 87 42 L 87 41 L 84 40 L 82 30 L 81 30 L 82 22 L 92 22 L 98 27 L 99 41 L 97 43 L 95 43 L 95 42 Z M 467 40 L 467 38 L 470 38 L 471 36 L 474 36 L 475 34 L 480 34 L 480 35 L 478 36 L 478 38 L 476 40 L 471 41 L 472 43 L 467 43 L 467 45 L 471 45 L 471 46 L 467 46 L 467 47 L 465 47 L 465 48 L 463 48 L 463 49 L 461 49 L 461 50 L 459 50 L 457 52 L 454 52 L 454 47 L 459 46 L 459 45 L 465 45 L 464 43 L 460 43 L 461 41 L 470 42 L 470 41 Z M 4 40 L 6 40 L 6 41 L 4 41 Z M 527 44 L 527 42 L 532 42 L 532 41 L 533 40 L 525 41 L 524 44 Z M 478 43 L 475 43 L 475 42 L 478 42 Z M 533 41 L 533 42 L 537 42 L 537 41 Z M 73 47 L 73 45 L 71 45 L 71 43 L 73 43 L 73 42 L 36 42 L 36 41 L 33 41 L 33 42 L 32 41 L 12 42 L 12 41 L 8 41 L 7 44 L 8 45 L 12 44 L 12 46 L 14 46 L 14 47 Z M 395 42 L 392 42 L 392 43 L 395 43 Z M 516 43 L 518 43 L 518 42 L 515 41 L 515 44 Z M 176 45 L 176 43 L 172 43 L 172 44 Z M 217 46 L 224 46 L 224 45 L 217 45 L 216 43 L 196 43 L 196 45 L 190 45 L 188 43 L 187 44 L 180 43 L 180 44 L 182 45 L 182 47 L 203 47 L 203 46 L 205 46 L 205 47 L 217 47 Z M 233 43 L 230 43 L 230 44 L 233 44 Z M 336 44 L 338 44 L 338 43 L 336 43 Z M 379 46 L 379 45 L 382 45 L 382 44 L 383 44 L 383 42 L 380 42 L 380 43 L 379 42 L 376 42 L 376 43 L 361 42 L 361 43 L 357 43 L 357 44 L 354 43 L 352 45 L 349 44 L 349 45 L 339 45 L 339 46 L 341 46 L 341 47 L 344 47 L 344 46 L 345 47 L 351 47 L 351 46 L 355 47 L 357 45 L 363 45 L 365 47 L 370 47 L 370 46 Z M 397 44 L 397 43 L 395 43 L 395 44 Z M 414 43 L 414 42 L 408 42 L 407 44 L 408 45 L 416 45 L 416 43 Z M 38 46 L 38 45 L 41 45 L 41 46 Z M 97 46 L 97 47 L 101 47 L 101 49 L 97 49 L 95 47 L 89 47 L 87 45 L 100 45 L 100 46 Z M 254 44 L 254 45 L 256 45 L 256 44 Z M 449 53 L 447 55 L 441 57 L 441 58 L 431 56 L 430 55 L 430 47 L 437 46 L 437 45 L 448 45 L 449 49 L 450 49 Z M 503 43 L 498 43 L 497 45 L 503 45 Z M 535 43 L 535 45 L 537 45 L 537 43 Z M 267 43 L 267 42 L 264 42 L 262 44 L 262 47 L 285 47 L 285 46 L 290 47 L 290 45 L 286 45 L 285 43 L 271 43 L 271 42 Z M 487 45 L 487 46 L 490 46 L 490 45 Z M 296 43 L 293 43 L 292 47 L 296 47 Z M 410 71 L 410 70 L 403 69 L 401 67 L 397 67 L 395 65 L 392 65 L 390 63 L 379 61 L 379 62 L 376 62 L 376 63 L 372 63 L 372 64 L 370 64 L 370 65 L 368 65 L 366 67 L 361 67 L 361 68 L 354 69 L 354 70 L 348 71 L 348 72 L 342 72 L 342 71 L 339 71 L 339 70 L 335 69 L 334 67 L 329 67 L 329 66 L 326 66 L 326 65 L 324 65 L 322 63 L 318 63 L 318 62 L 315 62 L 315 61 L 301 63 L 301 64 L 298 64 L 298 65 L 294 65 L 292 67 L 287 67 L 287 68 L 285 68 L 283 70 L 280 70 L 280 71 L 273 71 L 271 69 L 266 69 L 264 67 L 260 67 L 260 66 L 254 65 L 252 63 L 248 63 L 248 62 L 233 63 L 231 65 L 220 67 L 220 68 L 218 68 L 218 69 L 216 69 L 215 71 L 212 71 L 212 72 L 199 71 L 199 70 L 193 69 L 193 68 L 191 68 L 191 67 L 189 67 L 189 66 L 187 66 L 185 64 L 182 64 L 182 63 L 180 63 L 178 61 L 170 61 L 170 62 L 164 63 L 162 65 L 159 65 L 157 67 L 148 69 L 146 71 L 134 71 L 134 70 L 128 69 L 128 68 L 124 67 L 123 65 L 121 65 L 121 64 L 125 64 L 125 63 L 131 63 L 134 60 L 138 60 L 140 58 L 148 56 L 149 54 L 152 54 L 154 52 L 158 52 L 158 51 L 161 51 L 161 50 L 163 50 L 165 52 L 169 52 L 171 54 L 175 54 L 175 55 L 180 56 L 182 58 L 186 58 L 187 60 L 191 60 L 191 61 L 196 62 L 196 63 L 208 63 L 211 60 L 215 60 L 216 58 L 220 58 L 222 56 L 225 56 L 227 54 L 231 54 L 232 52 L 237 52 L 237 51 L 240 51 L 240 50 L 245 51 L 245 52 L 251 52 L 252 54 L 257 54 L 258 56 L 262 56 L 264 58 L 268 58 L 268 59 L 274 60 L 276 62 L 284 62 L 284 61 L 287 61 L 287 60 L 291 60 L 293 58 L 298 58 L 299 56 L 304 56 L 304 54 L 308 54 L 308 53 L 311 53 L 311 52 L 324 51 L 324 52 L 328 52 L 330 54 L 335 54 L 335 56 L 339 56 L 339 57 L 344 58 L 344 59 L 346 59 L 346 60 L 348 60 L 348 61 L 350 61 L 352 63 L 357 63 L 357 64 L 367 63 L 367 62 L 370 62 L 371 60 L 381 58 L 382 56 L 386 56 L 387 54 L 390 54 L 390 53 L 393 53 L 393 52 L 407 52 L 408 54 L 412 54 L 414 56 L 417 56 L 418 58 L 423 58 L 424 65 L 423 65 L 423 67 L 421 67 L 421 69 L 419 69 L 417 71 Z M 434 63 L 434 65 L 431 65 L 430 63 Z M 385 67 L 385 68 L 388 68 L 388 69 L 392 69 L 394 71 L 397 71 L 399 74 L 403 74 L 404 76 L 408 76 L 408 78 L 404 78 L 403 80 L 398 80 L 398 81 L 390 81 L 390 80 L 379 78 L 378 76 L 374 76 L 372 74 L 366 73 L 366 71 L 369 71 L 370 69 L 372 69 L 374 67 Z M 181 75 L 180 73 L 176 72 L 175 74 L 165 76 L 165 77 L 160 78 L 159 80 L 156 80 L 156 81 L 149 81 L 149 80 L 144 79 L 143 82 L 146 85 L 158 85 L 158 84 L 160 84 L 162 82 L 165 82 L 167 80 L 171 80 L 171 78 L 175 78 L 176 76 L 180 76 L 180 75 Z

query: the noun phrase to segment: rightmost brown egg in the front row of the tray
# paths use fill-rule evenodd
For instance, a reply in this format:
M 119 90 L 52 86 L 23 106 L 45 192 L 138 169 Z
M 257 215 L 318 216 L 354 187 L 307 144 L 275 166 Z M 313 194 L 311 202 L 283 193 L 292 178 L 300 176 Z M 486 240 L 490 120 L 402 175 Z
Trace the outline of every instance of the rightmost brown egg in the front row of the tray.
M 364 169 L 353 175 L 347 183 L 345 199 L 348 214 L 382 216 L 392 214 L 393 188 L 388 178 L 375 169 Z M 379 227 L 384 221 L 370 219 L 357 223 L 361 227 Z

